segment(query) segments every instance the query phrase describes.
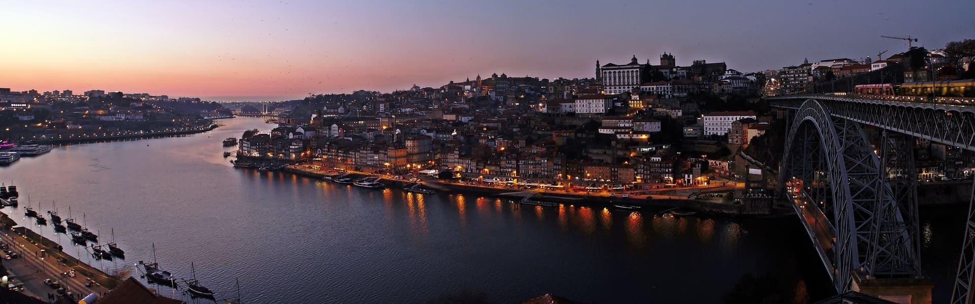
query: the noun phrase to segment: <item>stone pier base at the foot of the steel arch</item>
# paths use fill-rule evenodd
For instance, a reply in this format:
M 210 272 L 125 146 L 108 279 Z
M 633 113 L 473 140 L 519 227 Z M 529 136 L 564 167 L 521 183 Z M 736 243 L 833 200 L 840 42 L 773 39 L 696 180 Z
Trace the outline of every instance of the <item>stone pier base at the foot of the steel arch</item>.
M 934 284 L 923 277 L 878 279 L 854 272 L 851 289 L 894 303 L 930 304 Z

